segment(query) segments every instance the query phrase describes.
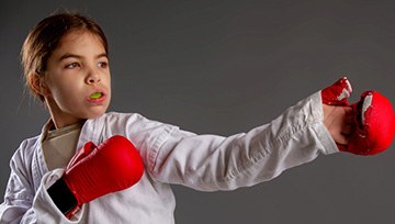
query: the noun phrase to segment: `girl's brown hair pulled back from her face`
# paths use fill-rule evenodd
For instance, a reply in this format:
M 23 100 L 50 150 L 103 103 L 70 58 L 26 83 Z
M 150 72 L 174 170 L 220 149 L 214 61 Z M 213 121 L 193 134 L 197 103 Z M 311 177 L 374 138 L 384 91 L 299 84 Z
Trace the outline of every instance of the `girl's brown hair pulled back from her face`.
M 61 12 L 53 14 L 37 23 L 27 34 L 21 51 L 22 67 L 26 86 L 42 101 L 44 101 L 44 97 L 32 87 L 31 76 L 43 77 L 47 60 L 61 37 L 69 32 L 81 30 L 98 35 L 102 41 L 105 53 L 109 53 L 108 42 L 102 29 L 93 20 L 79 13 Z

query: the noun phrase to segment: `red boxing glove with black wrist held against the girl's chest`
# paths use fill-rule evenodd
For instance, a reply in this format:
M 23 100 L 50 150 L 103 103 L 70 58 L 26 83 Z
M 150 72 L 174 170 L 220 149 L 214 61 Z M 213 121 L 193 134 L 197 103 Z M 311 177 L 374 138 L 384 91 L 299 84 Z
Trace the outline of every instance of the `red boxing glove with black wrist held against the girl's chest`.
M 66 172 L 48 193 L 59 210 L 70 217 L 83 203 L 137 183 L 143 172 L 143 160 L 134 145 L 116 135 L 99 147 L 87 143 L 71 158 Z

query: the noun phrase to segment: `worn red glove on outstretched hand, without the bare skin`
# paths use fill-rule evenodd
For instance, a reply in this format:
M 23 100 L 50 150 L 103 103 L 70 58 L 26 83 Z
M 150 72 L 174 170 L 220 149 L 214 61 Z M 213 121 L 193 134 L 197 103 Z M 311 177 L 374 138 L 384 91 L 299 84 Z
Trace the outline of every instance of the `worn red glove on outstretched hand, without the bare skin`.
M 347 99 L 352 88 L 346 77 L 321 91 L 323 103 L 349 107 Z M 390 147 L 395 133 L 395 116 L 390 100 L 377 91 L 365 91 L 361 100 L 351 105 L 353 132 L 348 144 L 338 145 L 343 152 L 375 155 Z

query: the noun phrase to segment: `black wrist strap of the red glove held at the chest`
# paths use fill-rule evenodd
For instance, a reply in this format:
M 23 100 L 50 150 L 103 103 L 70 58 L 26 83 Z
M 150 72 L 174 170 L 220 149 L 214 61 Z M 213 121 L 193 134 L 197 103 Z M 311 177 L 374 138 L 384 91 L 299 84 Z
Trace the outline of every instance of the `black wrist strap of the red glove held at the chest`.
M 47 190 L 49 197 L 60 210 L 61 213 L 67 215 L 69 212 L 76 209 L 77 199 L 67 187 L 65 180 L 60 178 Z

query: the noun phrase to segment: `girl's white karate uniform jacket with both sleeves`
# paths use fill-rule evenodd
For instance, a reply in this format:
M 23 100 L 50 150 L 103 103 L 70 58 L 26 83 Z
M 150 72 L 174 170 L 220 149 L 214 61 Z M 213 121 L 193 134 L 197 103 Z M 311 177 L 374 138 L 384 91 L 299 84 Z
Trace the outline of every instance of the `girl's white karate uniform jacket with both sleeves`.
M 268 181 L 285 169 L 337 153 L 325 127 L 320 92 L 289 108 L 269 124 L 229 137 L 196 135 L 139 114 L 110 112 L 88 120 L 77 148 L 123 135 L 139 150 L 145 173 L 123 191 L 98 198 L 66 219 L 46 189 L 64 173 L 48 171 L 43 134 L 25 139 L 13 155 L 0 223 L 174 223 L 170 184 L 200 191 L 233 190 Z

